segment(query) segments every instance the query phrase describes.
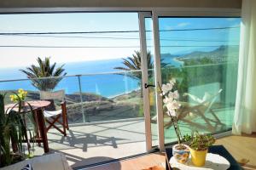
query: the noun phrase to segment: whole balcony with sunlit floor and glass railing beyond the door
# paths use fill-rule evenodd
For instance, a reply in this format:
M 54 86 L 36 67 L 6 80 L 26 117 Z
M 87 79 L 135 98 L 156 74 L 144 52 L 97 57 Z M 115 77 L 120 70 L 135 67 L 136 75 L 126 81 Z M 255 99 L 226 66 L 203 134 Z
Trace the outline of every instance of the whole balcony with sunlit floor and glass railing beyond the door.
M 235 66 L 234 66 L 235 65 Z M 189 98 L 182 98 L 183 103 L 189 104 L 187 111 L 181 117 L 180 127 L 183 134 L 191 133 L 196 128 L 201 132 L 221 133 L 230 130 L 233 122 L 235 101 L 230 96 L 230 89 L 233 89 L 230 82 L 224 82 L 223 75 L 228 73 L 224 69 L 226 64 L 218 65 L 195 65 L 184 66 L 183 71 L 188 73 L 197 72 L 202 74 L 197 79 L 193 75 L 177 77 L 177 81 L 184 78 L 189 79 L 188 86 L 183 90 L 189 94 L 202 97 L 208 93 L 212 96 L 219 89 L 223 92 L 217 95 L 214 101 L 204 103 L 206 107 L 200 108 L 201 114 L 195 111 L 195 101 Z M 230 64 L 236 70 L 236 63 Z M 219 75 L 206 79 L 209 70 L 220 71 Z M 166 67 L 166 72 L 180 74 L 182 70 L 175 67 Z M 60 79 L 55 90 L 65 90 L 67 101 L 67 117 L 69 131 L 64 137 L 55 128 L 51 128 L 48 135 L 50 152 L 61 152 L 67 156 L 72 167 L 86 166 L 102 161 L 111 161 L 126 156 L 134 156 L 146 152 L 145 120 L 143 114 L 143 94 L 141 92 L 141 80 L 132 77 L 134 73 L 141 74 L 141 71 L 119 71 L 106 72 L 67 77 L 41 78 L 42 82 L 51 82 L 56 78 Z M 114 77 L 114 78 L 113 78 Z M 234 85 L 236 86 L 236 85 Z M 229 87 L 227 89 L 226 87 Z M 28 91 L 26 98 L 39 100 L 40 95 L 37 88 L 32 86 L 32 80 L 10 80 L 1 81 L 1 93 L 7 93 L 5 103 L 9 104 L 9 93 L 23 88 Z M 204 89 L 205 91 L 201 91 Z M 234 88 L 236 89 L 236 88 Z M 150 88 L 151 107 L 151 131 L 152 143 L 158 144 L 156 114 L 154 111 L 154 88 Z M 208 105 L 208 103 L 211 103 Z M 60 105 L 55 107 L 58 109 Z M 186 109 L 188 109 L 186 108 Z M 172 143 L 177 140 L 176 134 L 170 124 L 170 118 L 165 116 L 165 143 Z M 24 145 L 26 147 L 26 144 Z M 33 145 L 35 156 L 44 155 L 44 149 L 38 144 Z

